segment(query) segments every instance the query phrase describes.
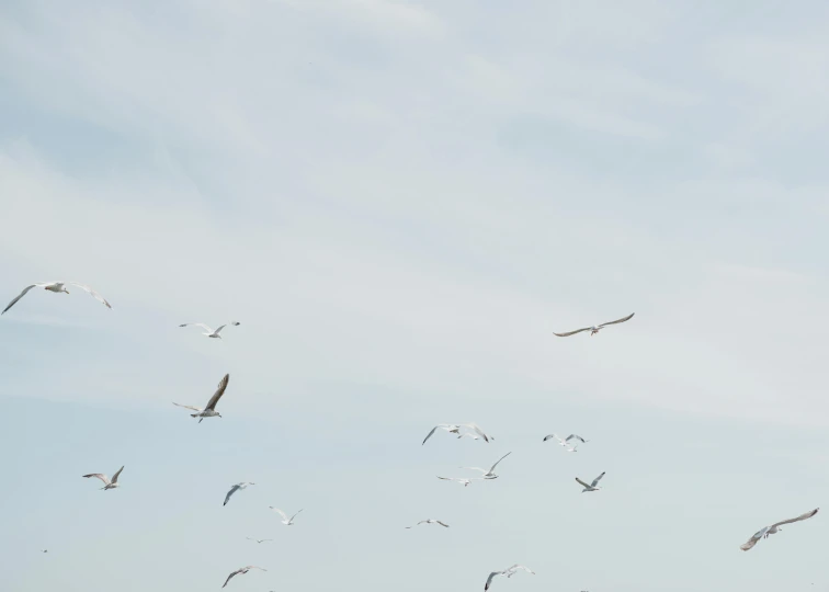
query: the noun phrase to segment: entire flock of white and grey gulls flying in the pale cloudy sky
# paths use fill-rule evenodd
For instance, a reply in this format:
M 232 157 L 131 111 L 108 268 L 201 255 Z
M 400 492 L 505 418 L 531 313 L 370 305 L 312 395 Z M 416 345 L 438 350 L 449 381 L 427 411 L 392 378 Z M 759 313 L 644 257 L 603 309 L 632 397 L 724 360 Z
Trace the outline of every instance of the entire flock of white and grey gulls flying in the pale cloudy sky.
M 44 289 L 46 289 L 48 292 L 53 292 L 53 293 L 56 293 L 56 294 L 59 294 L 59 293 L 69 294 L 69 291 L 66 289 L 67 285 L 77 286 L 77 287 L 83 289 L 89 295 L 91 295 L 92 297 L 94 297 L 98 301 L 100 301 L 104 306 L 106 306 L 106 308 L 112 308 L 112 306 L 110 305 L 110 303 L 106 301 L 106 299 L 103 296 L 101 296 L 98 292 L 95 292 L 94 289 L 92 289 L 88 285 L 80 284 L 78 282 L 42 282 L 42 283 L 36 283 L 36 284 L 32 284 L 30 286 L 26 286 L 23 289 L 23 292 L 21 292 L 11 303 L 9 303 L 9 305 L 3 309 L 2 312 L 0 312 L 0 315 L 5 314 L 21 298 L 23 298 L 23 296 L 25 296 L 26 294 L 29 294 L 29 292 L 32 288 L 42 287 L 42 288 L 44 288 Z M 614 321 L 603 322 L 601 325 L 593 325 L 593 326 L 590 326 L 590 327 L 583 327 L 581 329 L 577 329 L 575 331 L 568 331 L 568 332 L 565 332 L 565 333 L 555 333 L 554 332 L 554 334 L 557 335 L 557 337 L 565 338 L 565 337 L 575 335 L 577 333 L 581 333 L 583 331 L 590 331 L 590 337 L 592 337 L 592 335 L 597 334 L 600 330 L 602 330 L 603 328 L 605 328 L 607 326 L 617 325 L 617 323 L 622 323 L 622 322 L 626 322 L 626 321 L 631 320 L 633 318 L 633 316 L 634 316 L 634 314 L 631 314 L 631 315 L 628 315 L 626 317 L 623 317 L 621 319 L 616 319 Z M 235 327 L 238 327 L 240 323 L 238 321 L 232 321 L 230 325 L 232 325 Z M 185 322 L 185 323 L 180 325 L 179 327 L 189 327 L 189 326 L 195 326 L 195 327 L 200 327 L 200 328 L 204 329 L 205 332 L 202 333 L 202 334 L 205 335 L 205 337 L 207 337 L 207 338 L 211 338 L 211 339 L 222 339 L 222 335 L 219 333 L 222 332 L 222 330 L 225 327 L 227 327 L 227 325 L 223 325 L 223 326 L 218 327 L 216 330 L 213 330 L 208 326 L 206 326 L 204 323 L 201 323 L 201 322 Z M 191 413 L 191 417 L 192 418 L 198 418 L 198 423 L 201 423 L 202 421 L 204 421 L 207 418 L 222 418 L 222 414 L 218 411 L 216 411 L 216 406 L 218 405 L 218 402 L 222 399 L 222 397 L 225 395 L 225 391 L 227 390 L 227 386 L 228 386 L 229 382 L 230 382 L 230 375 L 226 374 L 222 378 L 222 380 L 219 382 L 219 384 L 218 384 L 218 386 L 216 388 L 216 391 L 209 398 L 209 400 L 207 401 L 207 403 L 206 403 L 206 406 L 204 408 L 193 407 L 193 406 L 188 406 L 188 405 L 181 405 L 181 403 L 177 403 L 177 402 L 173 402 L 173 405 L 178 406 L 178 407 L 182 407 L 184 409 L 189 409 L 191 411 L 194 411 L 194 413 Z M 495 440 L 491 435 L 487 434 L 476 423 L 472 423 L 472 422 L 470 423 L 457 423 L 457 424 L 454 424 L 454 423 L 440 423 L 440 424 L 435 425 L 434 428 L 432 428 L 430 430 L 430 432 L 423 439 L 423 442 L 422 442 L 421 445 L 425 444 L 429 441 L 429 439 L 432 437 L 432 435 L 434 435 L 434 433 L 438 430 L 443 430 L 443 431 L 445 431 L 447 433 L 454 434 L 457 439 L 469 437 L 472 440 L 484 440 L 484 442 L 487 442 L 487 443 L 489 443 L 490 441 Z M 464 431 L 462 432 L 462 430 L 464 430 Z M 578 445 L 579 445 L 579 443 L 586 444 L 586 443 L 589 442 L 588 440 L 584 440 L 583 437 L 581 437 L 578 434 L 570 434 L 567 437 L 560 437 L 560 436 L 558 436 L 556 434 L 548 434 L 548 435 L 544 436 L 543 442 L 547 442 L 548 440 L 555 440 L 567 452 L 572 452 L 572 453 L 578 452 Z M 571 444 L 571 442 L 572 442 L 572 444 Z M 442 480 L 446 480 L 446 481 L 455 481 L 455 482 L 458 482 L 458 483 L 463 485 L 464 487 L 468 487 L 473 481 L 487 481 L 487 480 L 491 480 L 491 479 L 497 479 L 498 475 L 495 473 L 496 467 L 498 467 L 498 465 L 501 463 L 501 460 L 503 460 L 504 458 L 507 458 L 511 454 L 512 454 L 512 452 L 508 452 L 502 457 L 500 457 L 498 460 L 496 460 L 495 464 L 492 464 L 492 466 L 489 467 L 489 468 L 461 467 L 463 469 L 477 470 L 477 471 L 479 471 L 481 474 L 480 477 L 440 477 L 440 476 L 438 476 L 438 478 L 442 479 Z M 101 489 L 102 490 L 110 490 L 110 489 L 116 489 L 116 488 L 120 487 L 118 477 L 121 476 L 121 474 L 122 474 L 123 470 L 124 470 L 124 467 L 122 466 L 117 471 L 115 471 L 115 474 L 112 476 L 112 478 L 110 478 L 109 476 L 106 476 L 106 475 L 104 475 L 102 473 L 91 473 L 89 475 L 83 475 L 83 477 L 84 478 L 96 478 L 96 479 L 100 479 L 101 482 L 103 482 L 103 485 L 104 485 L 104 487 L 102 487 Z M 588 483 L 587 481 L 581 480 L 579 477 L 576 477 L 576 481 L 580 486 L 582 486 L 582 488 L 583 488 L 581 490 L 582 493 L 593 492 L 593 491 L 599 491 L 600 490 L 600 488 L 598 487 L 598 485 L 599 485 L 599 481 L 602 479 L 602 477 L 604 477 L 604 473 L 602 473 L 601 475 L 599 475 L 590 483 Z M 234 496 L 234 493 L 236 493 L 237 491 L 241 491 L 241 490 L 246 489 L 248 486 L 252 486 L 252 485 L 255 485 L 255 483 L 249 482 L 249 481 L 245 481 L 245 482 L 240 482 L 240 483 L 234 485 L 230 488 L 230 490 L 227 492 L 227 494 L 225 496 L 225 501 L 224 501 L 223 505 L 227 505 L 227 503 L 230 501 L 230 498 Z M 288 517 L 287 514 L 285 514 L 285 512 L 283 512 L 279 508 L 274 508 L 272 505 L 269 506 L 269 508 L 271 510 L 273 510 L 274 512 L 279 513 L 282 516 L 282 524 L 284 524 L 286 526 L 292 526 L 294 524 L 294 519 L 299 514 L 299 512 L 302 512 L 302 510 L 299 510 L 294 515 L 292 515 L 291 517 Z M 740 549 L 742 549 L 743 551 L 752 549 L 754 547 L 754 545 L 757 545 L 757 543 L 760 542 L 761 539 L 768 538 L 769 536 L 781 532 L 781 530 L 782 530 L 781 526 L 783 526 L 784 524 L 792 524 L 792 523 L 795 523 L 795 522 L 800 522 L 800 521 L 810 519 L 815 514 L 818 513 L 818 510 L 819 510 L 819 508 L 816 508 L 815 510 L 806 512 L 805 514 L 802 514 L 802 515 L 799 515 L 797 517 L 784 520 L 784 521 L 781 521 L 781 522 L 775 522 L 774 524 L 771 524 L 769 526 L 764 526 L 763 528 L 761 528 L 760 531 L 758 531 L 757 533 L 754 533 L 751 536 L 751 538 L 749 538 L 746 543 L 743 543 L 742 545 L 740 545 Z M 436 525 L 442 526 L 444 528 L 448 528 L 450 527 L 448 524 L 446 524 L 445 522 L 443 522 L 441 520 L 425 519 L 425 520 L 421 520 L 420 522 L 418 522 L 413 526 L 406 526 L 406 528 L 413 528 L 416 526 L 420 526 L 421 524 L 436 524 Z M 250 538 L 250 537 L 247 537 L 247 538 L 249 540 L 254 540 L 257 544 L 261 544 L 261 543 L 265 543 L 265 542 L 272 540 L 270 538 L 262 538 L 262 539 Z M 48 550 L 47 549 L 43 549 L 42 553 L 48 553 Z M 251 569 L 259 569 L 259 570 L 262 570 L 262 571 L 268 571 L 266 569 L 258 567 L 258 566 L 246 566 L 243 568 L 239 568 L 236 571 L 232 571 L 227 577 L 227 579 L 225 580 L 225 583 L 223 584 L 222 588 L 225 588 L 228 584 L 228 582 L 230 582 L 230 580 L 232 578 L 235 578 L 236 576 L 248 573 L 248 571 L 250 571 Z M 498 577 L 498 576 L 507 576 L 507 578 L 511 578 L 512 576 L 514 576 L 515 573 L 518 573 L 519 570 L 524 570 L 524 571 L 526 571 L 529 573 L 532 573 L 532 574 L 535 573 L 530 568 L 527 568 L 525 566 L 522 566 L 522 565 L 519 565 L 519 563 L 515 563 L 515 565 L 513 565 L 513 566 L 511 566 L 511 567 L 509 567 L 507 569 L 490 572 L 489 577 L 486 580 L 486 583 L 484 584 L 484 590 L 485 591 L 489 590 L 489 587 L 492 584 L 492 580 L 496 577 Z M 582 592 L 587 592 L 587 591 L 582 591 Z

